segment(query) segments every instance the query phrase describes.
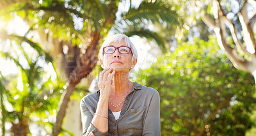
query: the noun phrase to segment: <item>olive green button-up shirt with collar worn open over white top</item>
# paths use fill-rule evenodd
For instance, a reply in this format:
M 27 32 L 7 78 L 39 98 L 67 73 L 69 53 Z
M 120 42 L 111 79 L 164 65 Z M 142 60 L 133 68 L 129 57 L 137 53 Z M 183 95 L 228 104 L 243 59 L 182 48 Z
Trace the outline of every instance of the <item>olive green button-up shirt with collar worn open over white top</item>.
M 93 132 L 98 135 L 160 135 L 160 98 L 156 89 L 134 82 L 132 91 L 127 94 L 120 117 L 108 109 L 108 132 L 102 133 L 92 125 L 97 109 L 100 91 L 88 94 L 80 103 L 83 135 Z

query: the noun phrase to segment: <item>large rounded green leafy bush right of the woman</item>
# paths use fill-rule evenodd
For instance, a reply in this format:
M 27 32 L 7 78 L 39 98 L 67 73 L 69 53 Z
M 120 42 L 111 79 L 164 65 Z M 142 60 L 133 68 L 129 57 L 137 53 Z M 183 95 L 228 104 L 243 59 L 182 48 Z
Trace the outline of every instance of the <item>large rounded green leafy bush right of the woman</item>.
M 159 91 L 162 135 L 244 135 L 253 125 L 252 75 L 236 70 L 215 38 L 194 39 L 137 74 Z

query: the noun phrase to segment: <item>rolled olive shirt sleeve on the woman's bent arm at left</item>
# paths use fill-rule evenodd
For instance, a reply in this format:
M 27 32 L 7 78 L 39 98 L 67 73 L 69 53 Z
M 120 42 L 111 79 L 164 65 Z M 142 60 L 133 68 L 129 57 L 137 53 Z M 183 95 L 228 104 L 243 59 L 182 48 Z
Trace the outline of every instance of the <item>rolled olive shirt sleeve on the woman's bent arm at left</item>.
M 95 136 L 108 135 L 108 132 L 102 133 L 95 126 L 92 125 L 93 114 L 88 109 L 86 103 L 84 102 L 84 98 L 80 102 L 81 109 L 81 119 L 83 125 L 83 136 L 88 136 L 90 132 L 93 132 Z

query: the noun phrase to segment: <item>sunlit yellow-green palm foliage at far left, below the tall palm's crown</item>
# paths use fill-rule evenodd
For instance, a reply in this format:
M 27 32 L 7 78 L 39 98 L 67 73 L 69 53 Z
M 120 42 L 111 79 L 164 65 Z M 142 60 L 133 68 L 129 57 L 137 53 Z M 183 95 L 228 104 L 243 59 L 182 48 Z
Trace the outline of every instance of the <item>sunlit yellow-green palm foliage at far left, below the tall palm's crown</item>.
M 7 50 L 0 50 L 0 55 L 13 61 L 19 73 L 0 77 L 1 128 L 5 129 L 4 122 L 16 124 L 24 120 L 50 127 L 48 122 L 51 116 L 56 116 L 65 84 L 57 78 L 52 58 L 37 43 L 15 35 L 8 36 L 7 40 L 11 42 L 3 45 Z

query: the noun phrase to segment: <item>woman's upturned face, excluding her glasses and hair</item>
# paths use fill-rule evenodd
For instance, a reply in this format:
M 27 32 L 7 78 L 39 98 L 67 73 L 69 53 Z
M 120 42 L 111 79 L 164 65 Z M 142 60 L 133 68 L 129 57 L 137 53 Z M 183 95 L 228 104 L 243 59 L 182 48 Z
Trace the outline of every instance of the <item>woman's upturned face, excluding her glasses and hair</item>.
M 125 41 L 112 42 L 108 46 L 121 47 L 126 46 Z M 115 72 L 129 72 L 131 68 L 134 68 L 134 65 L 137 63 L 137 60 L 134 59 L 132 62 L 132 53 L 129 54 L 120 54 L 118 49 L 115 50 L 113 54 L 103 54 L 103 60 L 100 59 L 100 64 L 102 68 L 113 68 Z

